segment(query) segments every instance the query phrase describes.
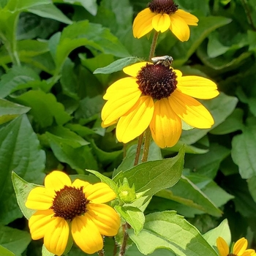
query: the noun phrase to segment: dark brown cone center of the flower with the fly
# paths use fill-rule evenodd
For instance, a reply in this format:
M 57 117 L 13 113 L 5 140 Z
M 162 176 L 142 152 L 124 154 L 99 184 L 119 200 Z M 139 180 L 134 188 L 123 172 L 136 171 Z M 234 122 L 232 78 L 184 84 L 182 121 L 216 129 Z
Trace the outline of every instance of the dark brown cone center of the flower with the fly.
M 177 88 L 176 72 L 163 64 L 146 64 L 136 77 L 143 95 L 153 99 L 167 98 Z

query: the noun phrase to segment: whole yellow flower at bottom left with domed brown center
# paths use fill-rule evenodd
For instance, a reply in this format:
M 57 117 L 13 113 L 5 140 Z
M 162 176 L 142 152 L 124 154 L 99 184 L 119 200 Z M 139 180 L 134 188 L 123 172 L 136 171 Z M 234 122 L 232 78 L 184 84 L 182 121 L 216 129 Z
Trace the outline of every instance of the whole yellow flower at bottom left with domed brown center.
M 37 210 L 29 219 L 34 240 L 44 238 L 45 247 L 55 255 L 66 249 L 69 233 L 83 252 L 102 249 L 102 236 L 115 236 L 120 226 L 116 211 L 103 203 L 116 193 L 107 184 L 76 179 L 54 170 L 45 177 L 45 187 L 31 190 L 26 207 Z

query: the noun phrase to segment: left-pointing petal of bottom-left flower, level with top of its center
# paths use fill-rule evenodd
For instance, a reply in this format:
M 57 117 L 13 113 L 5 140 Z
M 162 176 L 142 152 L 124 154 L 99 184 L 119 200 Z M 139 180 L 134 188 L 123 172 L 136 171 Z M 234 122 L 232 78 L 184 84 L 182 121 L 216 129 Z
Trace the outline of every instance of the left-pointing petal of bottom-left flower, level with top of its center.
M 35 187 L 29 192 L 25 206 L 34 210 L 47 210 L 53 204 L 55 192 L 45 187 Z

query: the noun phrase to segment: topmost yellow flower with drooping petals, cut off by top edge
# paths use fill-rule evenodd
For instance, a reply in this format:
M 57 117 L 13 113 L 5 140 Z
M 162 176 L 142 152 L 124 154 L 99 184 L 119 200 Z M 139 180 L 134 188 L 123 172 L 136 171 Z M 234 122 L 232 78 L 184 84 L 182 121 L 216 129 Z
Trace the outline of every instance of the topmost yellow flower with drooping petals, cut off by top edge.
M 140 38 L 152 29 L 173 32 L 181 42 L 190 36 L 189 26 L 197 26 L 198 19 L 184 10 L 178 9 L 173 0 L 152 0 L 148 8 L 139 12 L 133 23 L 133 35 Z

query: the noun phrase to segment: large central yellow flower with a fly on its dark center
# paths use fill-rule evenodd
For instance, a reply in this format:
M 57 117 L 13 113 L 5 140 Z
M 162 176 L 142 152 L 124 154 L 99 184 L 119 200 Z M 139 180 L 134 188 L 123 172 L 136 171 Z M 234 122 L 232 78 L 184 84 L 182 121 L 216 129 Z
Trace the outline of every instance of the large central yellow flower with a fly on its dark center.
M 113 83 L 104 95 L 102 127 L 117 123 L 118 141 L 127 143 L 149 126 L 161 148 L 174 146 L 181 135 L 181 119 L 192 127 L 210 128 L 214 119 L 198 99 L 211 99 L 217 85 L 198 76 L 182 76 L 164 61 L 140 62 L 125 67 L 131 77 Z

